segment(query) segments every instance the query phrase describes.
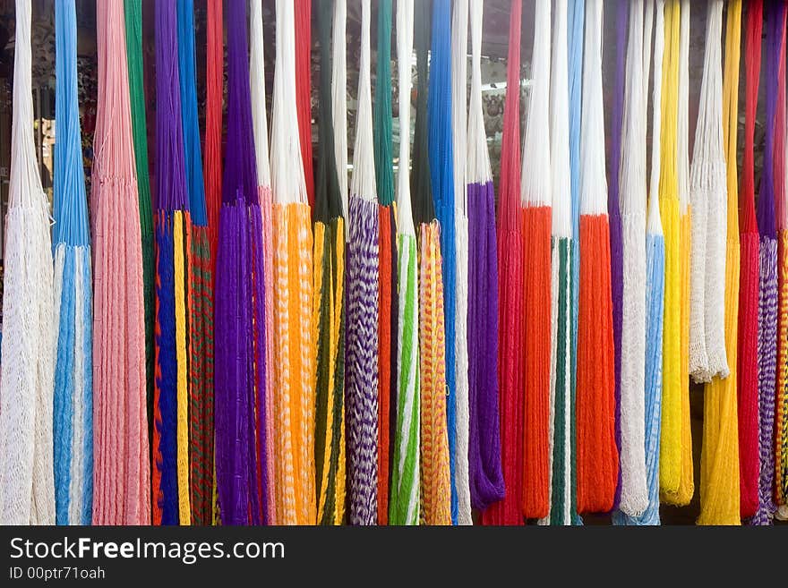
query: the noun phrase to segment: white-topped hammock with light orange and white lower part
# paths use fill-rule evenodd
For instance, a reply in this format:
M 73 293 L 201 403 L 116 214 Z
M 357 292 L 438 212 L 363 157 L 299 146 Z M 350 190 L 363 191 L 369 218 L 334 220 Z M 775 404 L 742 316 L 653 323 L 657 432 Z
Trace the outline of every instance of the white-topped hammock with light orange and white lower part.
M 277 0 L 271 128 L 274 197 L 274 488 L 278 524 L 317 520 L 314 470 L 313 239 L 295 103 L 293 4 Z

